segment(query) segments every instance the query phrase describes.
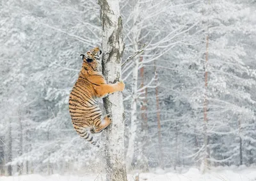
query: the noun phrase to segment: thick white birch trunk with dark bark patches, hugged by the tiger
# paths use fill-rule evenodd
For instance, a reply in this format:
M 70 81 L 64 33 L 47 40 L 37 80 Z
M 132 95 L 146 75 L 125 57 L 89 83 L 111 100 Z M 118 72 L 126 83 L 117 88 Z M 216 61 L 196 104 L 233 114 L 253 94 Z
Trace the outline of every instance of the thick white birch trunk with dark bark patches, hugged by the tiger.
M 124 51 L 122 18 L 118 0 L 99 0 L 102 22 L 102 73 L 108 83 L 120 81 Z M 107 181 L 126 181 L 124 162 L 124 105 L 122 92 L 103 99 L 106 113 L 112 123 L 106 129 L 106 178 Z

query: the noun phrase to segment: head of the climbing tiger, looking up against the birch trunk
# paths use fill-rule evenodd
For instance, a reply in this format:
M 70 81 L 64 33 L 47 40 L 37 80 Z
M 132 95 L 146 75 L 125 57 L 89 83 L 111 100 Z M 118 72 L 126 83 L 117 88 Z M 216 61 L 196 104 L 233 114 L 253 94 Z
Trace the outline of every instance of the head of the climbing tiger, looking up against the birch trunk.
M 86 52 L 86 54 L 81 54 L 83 59 L 83 67 L 85 70 L 99 71 L 100 66 L 100 51 L 99 47 Z

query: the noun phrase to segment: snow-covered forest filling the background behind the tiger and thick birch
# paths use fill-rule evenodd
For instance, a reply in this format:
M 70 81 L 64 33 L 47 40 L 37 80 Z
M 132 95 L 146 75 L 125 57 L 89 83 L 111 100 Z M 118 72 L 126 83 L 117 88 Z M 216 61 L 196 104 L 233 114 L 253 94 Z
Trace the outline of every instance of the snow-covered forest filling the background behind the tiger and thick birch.
M 256 1 L 123 0 L 127 169 L 256 163 Z M 104 168 L 68 95 L 102 40 L 94 0 L 0 1 L 0 175 Z M 104 136 L 104 133 L 97 136 Z

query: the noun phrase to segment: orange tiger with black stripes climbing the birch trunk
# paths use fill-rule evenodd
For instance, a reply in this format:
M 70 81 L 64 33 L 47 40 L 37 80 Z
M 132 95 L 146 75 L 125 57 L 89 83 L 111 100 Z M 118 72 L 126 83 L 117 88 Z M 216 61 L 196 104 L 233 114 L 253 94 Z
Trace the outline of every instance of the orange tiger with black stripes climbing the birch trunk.
M 83 65 L 69 96 L 69 112 L 74 129 L 79 136 L 98 148 L 100 145 L 93 139 L 92 134 L 101 132 L 112 122 L 109 115 L 102 116 L 98 100 L 125 88 L 123 81 L 106 83 L 99 71 L 100 54 L 102 51 L 95 47 L 85 55 L 80 55 Z M 89 129 L 92 134 L 88 132 Z

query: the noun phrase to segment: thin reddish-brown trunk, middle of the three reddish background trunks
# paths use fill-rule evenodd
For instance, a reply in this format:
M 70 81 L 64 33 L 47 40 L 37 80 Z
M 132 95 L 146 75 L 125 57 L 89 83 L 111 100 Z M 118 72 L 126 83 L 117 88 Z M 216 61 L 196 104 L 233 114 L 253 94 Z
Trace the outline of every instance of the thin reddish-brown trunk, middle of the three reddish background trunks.
M 158 78 L 156 72 L 156 61 L 154 61 L 154 70 L 156 73 L 156 79 Z M 159 166 L 164 168 L 163 166 L 163 150 L 162 150 L 162 135 L 161 135 L 161 114 L 160 114 L 160 106 L 159 106 L 159 97 L 158 97 L 158 87 L 156 86 L 156 109 L 157 109 L 157 132 L 158 132 L 158 142 L 159 142 Z

